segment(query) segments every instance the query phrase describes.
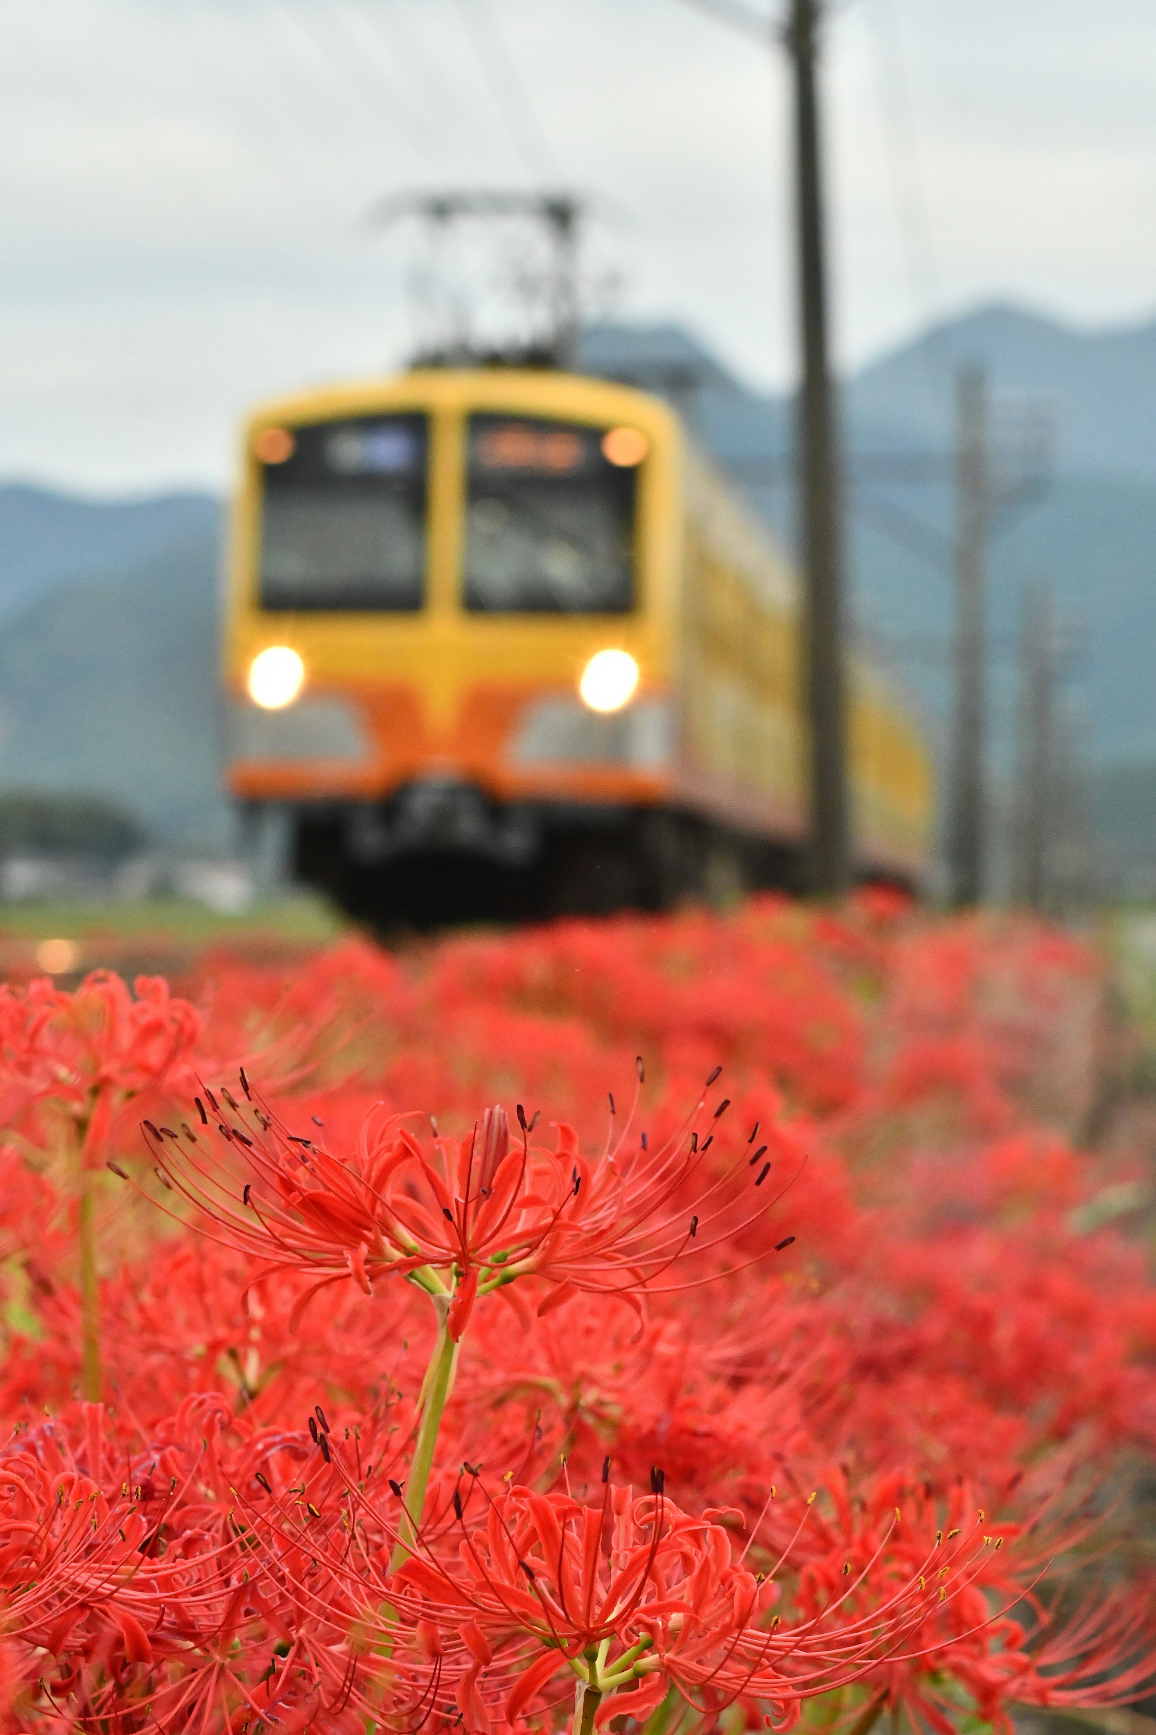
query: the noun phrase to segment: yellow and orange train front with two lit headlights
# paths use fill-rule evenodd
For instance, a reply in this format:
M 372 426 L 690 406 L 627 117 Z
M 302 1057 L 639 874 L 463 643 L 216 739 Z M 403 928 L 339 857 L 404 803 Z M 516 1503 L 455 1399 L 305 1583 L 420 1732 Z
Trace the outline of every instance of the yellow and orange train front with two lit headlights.
M 378 923 L 659 902 L 678 423 L 565 375 L 404 375 L 244 439 L 227 777 Z

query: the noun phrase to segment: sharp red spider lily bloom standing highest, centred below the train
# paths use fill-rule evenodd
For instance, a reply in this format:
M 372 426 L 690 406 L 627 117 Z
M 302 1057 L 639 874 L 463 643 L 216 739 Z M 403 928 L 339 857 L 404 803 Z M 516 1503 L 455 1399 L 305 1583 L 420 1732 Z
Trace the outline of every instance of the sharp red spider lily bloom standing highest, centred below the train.
M 341 1159 L 315 1138 L 289 1133 L 248 1095 L 244 1103 L 220 1095 L 224 1109 L 206 1091 L 211 1116 L 198 1098 L 199 1121 L 210 1140 L 232 1147 L 236 1162 L 213 1161 L 205 1131 L 187 1123 L 182 1135 L 146 1123 L 146 1136 L 161 1180 L 210 1216 L 229 1246 L 263 1261 L 253 1280 L 291 1268 L 317 1273 L 300 1306 L 347 1279 L 366 1294 L 388 1275 L 411 1277 L 435 1294 L 452 1289 L 454 1341 L 477 1296 L 506 1291 L 518 1277 L 551 1286 L 539 1312 L 586 1289 L 620 1296 L 641 1315 L 643 1293 L 688 1287 L 657 1282 L 676 1260 L 698 1256 L 718 1275 L 724 1249 L 768 1214 L 802 1161 L 780 1128 L 754 1143 L 756 1123 L 738 1156 L 707 1162 L 714 1131 L 700 1138 L 697 1126 L 705 1098 L 664 1145 L 648 1149 L 641 1135 L 627 1152 L 622 1135 L 600 1161 L 579 1154 L 568 1126 L 560 1126 L 553 1152 L 530 1147 L 525 1117 L 511 1143 L 501 1107 L 487 1109 L 468 1138 L 438 1138 L 426 1156 L 402 1126 L 407 1116 L 380 1105 L 360 1128 L 355 1156 Z M 716 1107 L 712 1123 L 726 1107 Z M 776 1182 L 761 1192 L 771 1169 Z M 250 1176 L 244 1183 L 241 1171 Z

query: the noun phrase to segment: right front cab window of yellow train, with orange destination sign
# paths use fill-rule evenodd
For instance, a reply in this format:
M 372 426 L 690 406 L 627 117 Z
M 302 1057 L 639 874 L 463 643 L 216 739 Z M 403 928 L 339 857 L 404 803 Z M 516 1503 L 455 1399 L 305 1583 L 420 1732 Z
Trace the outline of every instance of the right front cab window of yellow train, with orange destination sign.
M 582 423 L 470 418 L 466 609 L 624 614 L 633 607 L 634 494 L 646 442 L 629 432 L 634 446 L 626 451 L 605 429 Z

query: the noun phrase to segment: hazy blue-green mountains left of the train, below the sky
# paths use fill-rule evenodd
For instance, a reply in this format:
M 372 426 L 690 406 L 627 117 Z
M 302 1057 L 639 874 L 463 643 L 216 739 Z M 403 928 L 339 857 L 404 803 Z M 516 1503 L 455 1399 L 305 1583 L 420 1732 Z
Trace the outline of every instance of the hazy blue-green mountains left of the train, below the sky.
M 88 791 L 231 838 L 217 756 L 220 501 L 0 488 L 0 791 Z

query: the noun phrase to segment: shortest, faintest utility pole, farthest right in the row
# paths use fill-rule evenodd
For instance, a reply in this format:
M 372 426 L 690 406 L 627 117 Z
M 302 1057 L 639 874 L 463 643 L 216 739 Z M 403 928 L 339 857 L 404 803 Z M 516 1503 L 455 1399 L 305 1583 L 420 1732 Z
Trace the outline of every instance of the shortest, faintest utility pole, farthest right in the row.
M 1021 642 L 1021 748 L 1016 802 L 1014 894 L 1042 909 L 1049 845 L 1055 826 L 1055 619 L 1050 585 L 1033 585 L 1024 600 Z

